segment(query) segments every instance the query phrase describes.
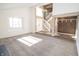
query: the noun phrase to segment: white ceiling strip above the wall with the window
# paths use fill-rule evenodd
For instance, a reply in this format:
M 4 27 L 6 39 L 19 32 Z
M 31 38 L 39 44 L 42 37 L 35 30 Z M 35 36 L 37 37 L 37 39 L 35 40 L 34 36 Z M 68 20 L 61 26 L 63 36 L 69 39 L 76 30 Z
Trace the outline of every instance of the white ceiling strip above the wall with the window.
M 13 8 L 13 7 L 35 7 L 43 3 L 0 3 L 0 9 Z

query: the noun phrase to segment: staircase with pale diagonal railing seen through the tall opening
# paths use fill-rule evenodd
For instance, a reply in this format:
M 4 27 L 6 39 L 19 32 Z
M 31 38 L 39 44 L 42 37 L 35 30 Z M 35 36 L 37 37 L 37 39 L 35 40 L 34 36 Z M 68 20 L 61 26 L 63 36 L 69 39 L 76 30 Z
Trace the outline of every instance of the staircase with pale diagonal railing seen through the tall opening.
M 52 13 L 46 15 L 45 19 L 43 19 L 43 30 L 40 31 L 42 34 L 52 34 Z

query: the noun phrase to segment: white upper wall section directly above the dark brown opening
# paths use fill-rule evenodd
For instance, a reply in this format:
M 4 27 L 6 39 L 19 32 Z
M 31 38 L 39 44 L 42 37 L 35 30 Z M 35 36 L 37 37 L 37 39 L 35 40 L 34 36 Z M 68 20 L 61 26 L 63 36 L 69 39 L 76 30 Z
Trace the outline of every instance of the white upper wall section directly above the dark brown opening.
M 54 3 L 53 9 L 53 15 L 79 12 L 79 3 Z

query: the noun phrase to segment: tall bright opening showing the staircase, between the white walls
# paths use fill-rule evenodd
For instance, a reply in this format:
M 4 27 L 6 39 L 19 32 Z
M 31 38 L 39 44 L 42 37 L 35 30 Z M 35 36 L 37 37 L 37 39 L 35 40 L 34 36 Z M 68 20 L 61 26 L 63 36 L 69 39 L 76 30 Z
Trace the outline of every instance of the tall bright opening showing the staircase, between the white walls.
M 52 34 L 52 3 L 36 7 L 36 32 Z

